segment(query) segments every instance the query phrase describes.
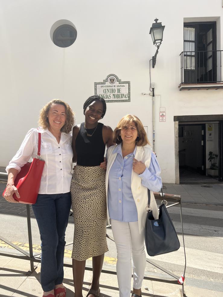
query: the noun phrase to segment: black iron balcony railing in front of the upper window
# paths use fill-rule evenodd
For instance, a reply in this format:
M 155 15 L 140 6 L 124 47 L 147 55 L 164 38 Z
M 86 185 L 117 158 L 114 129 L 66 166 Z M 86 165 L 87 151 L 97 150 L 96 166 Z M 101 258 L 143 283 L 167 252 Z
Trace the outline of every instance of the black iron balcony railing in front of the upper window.
M 180 53 L 180 84 L 220 83 L 222 50 Z

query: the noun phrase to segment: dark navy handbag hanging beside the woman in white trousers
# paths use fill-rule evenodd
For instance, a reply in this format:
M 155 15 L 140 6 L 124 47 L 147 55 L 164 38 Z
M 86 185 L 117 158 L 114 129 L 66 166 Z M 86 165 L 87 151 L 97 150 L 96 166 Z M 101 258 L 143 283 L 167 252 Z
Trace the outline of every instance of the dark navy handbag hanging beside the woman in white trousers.
M 163 191 L 162 197 L 164 197 Z M 177 251 L 180 248 L 180 242 L 164 200 L 159 207 L 159 218 L 154 220 L 150 210 L 150 190 L 148 190 L 148 208 L 145 223 L 145 246 L 148 255 L 156 256 Z

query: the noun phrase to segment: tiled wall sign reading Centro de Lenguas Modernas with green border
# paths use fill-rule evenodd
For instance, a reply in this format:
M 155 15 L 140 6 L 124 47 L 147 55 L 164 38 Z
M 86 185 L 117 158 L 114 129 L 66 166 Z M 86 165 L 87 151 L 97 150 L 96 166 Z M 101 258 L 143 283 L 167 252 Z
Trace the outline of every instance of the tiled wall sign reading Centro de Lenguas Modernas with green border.
M 106 102 L 130 102 L 130 81 L 121 81 L 115 74 L 109 74 L 103 82 L 94 83 L 94 95 Z

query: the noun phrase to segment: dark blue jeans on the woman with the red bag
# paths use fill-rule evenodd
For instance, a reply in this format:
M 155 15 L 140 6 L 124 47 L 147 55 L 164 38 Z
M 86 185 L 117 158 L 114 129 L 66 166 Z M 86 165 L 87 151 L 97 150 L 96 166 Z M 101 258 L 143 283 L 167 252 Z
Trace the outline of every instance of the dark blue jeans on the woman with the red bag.
M 65 230 L 71 207 L 71 195 L 38 194 L 32 205 L 41 239 L 40 283 L 44 292 L 54 289 L 63 281 Z

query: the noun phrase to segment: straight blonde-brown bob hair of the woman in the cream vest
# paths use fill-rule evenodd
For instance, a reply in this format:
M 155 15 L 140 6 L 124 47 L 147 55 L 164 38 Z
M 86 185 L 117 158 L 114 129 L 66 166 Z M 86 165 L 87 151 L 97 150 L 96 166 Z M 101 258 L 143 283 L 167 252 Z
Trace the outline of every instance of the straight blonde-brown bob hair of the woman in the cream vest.
M 135 124 L 137 131 L 138 131 L 138 137 L 136 138 L 136 145 L 141 147 L 146 144 L 149 144 L 145 129 L 142 125 L 142 122 L 140 119 L 135 115 L 125 115 L 118 123 L 117 127 L 115 128 L 113 132 L 113 142 L 116 144 L 122 143 L 122 138 L 120 136 L 120 130 L 127 127 L 128 125 L 131 125 L 132 123 Z

